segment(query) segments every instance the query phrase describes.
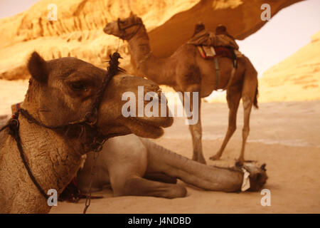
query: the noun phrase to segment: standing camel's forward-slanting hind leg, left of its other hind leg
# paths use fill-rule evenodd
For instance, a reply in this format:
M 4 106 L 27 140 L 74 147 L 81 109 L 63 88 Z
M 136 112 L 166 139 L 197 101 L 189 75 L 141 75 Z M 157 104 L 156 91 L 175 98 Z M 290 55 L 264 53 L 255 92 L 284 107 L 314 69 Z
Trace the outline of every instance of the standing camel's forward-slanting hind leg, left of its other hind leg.
M 227 90 L 227 101 L 229 107 L 229 123 L 228 123 L 228 130 L 225 134 L 225 139 L 223 140 L 223 144 L 220 147 L 220 150 L 210 157 L 210 160 L 218 160 L 221 155 L 223 154 L 223 150 L 225 150 L 225 146 L 228 144 L 231 136 L 235 133 L 237 128 L 237 112 L 241 98 L 241 88 L 239 87 L 230 87 Z

